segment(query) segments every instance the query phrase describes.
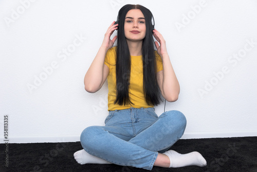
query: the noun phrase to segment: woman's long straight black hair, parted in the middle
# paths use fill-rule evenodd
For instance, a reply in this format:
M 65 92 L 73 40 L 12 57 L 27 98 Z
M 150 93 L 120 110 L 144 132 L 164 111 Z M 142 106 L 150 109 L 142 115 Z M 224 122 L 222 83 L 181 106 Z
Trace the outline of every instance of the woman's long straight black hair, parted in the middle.
M 142 56 L 143 56 L 143 91 L 145 101 L 148 105 L 158 105 L 160 103 L 160 90 L 157 83 L 156 76 L 156 60 L 155 49 L 153 39 L 153 14 L 152 12 L 141 6 L 127 4 L 119 10 L 118 21 L 118 39 L 116 49 L 116 88 L 117 97 L 115 104 L 128 105 L 133 104 L 128 96 L 128 87 L 130 85 L 130 73 L 131 73 L 131 56 L 128 49 L 125 33 L 124 33 L 124 21 L 125 16 L 131 9 L 140 9 L 145 18 L 146 33 L 143 39 Z

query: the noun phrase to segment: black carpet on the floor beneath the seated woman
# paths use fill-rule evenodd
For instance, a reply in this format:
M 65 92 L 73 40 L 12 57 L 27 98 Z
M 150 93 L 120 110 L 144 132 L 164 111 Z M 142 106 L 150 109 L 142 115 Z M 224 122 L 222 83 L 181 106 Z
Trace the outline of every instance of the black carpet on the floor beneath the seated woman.
M 115 164 L 78 164 L 73 154 L 82 149 L 80 143 L 0 144 L 0 171 L 149 171 Z M 152 171 L 257 171 L 257 137 L 179 140 L 172 146 L 179 153 L 200 152 L 207 166 L 182 168 L 153 167 Z M 5 152 L 8 150 L 8 153 Z

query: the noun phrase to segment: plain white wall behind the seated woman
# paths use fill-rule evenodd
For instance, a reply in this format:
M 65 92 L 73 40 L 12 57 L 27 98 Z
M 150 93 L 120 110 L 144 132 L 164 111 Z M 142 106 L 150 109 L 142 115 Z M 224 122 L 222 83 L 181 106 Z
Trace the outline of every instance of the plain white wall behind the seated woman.
M 186 115 L 182 138 L 257 136 L 256 1 L 6 0 L 0 2 L 0 143 L 5 115 L 9 143 L 74 142 L 84 128 L 104 125 L 107 82 L 90 94 L 83 79 L 125 4 L 149 8 L 167 41 L 181 91 L 166 110 Z M 156 107 L 158 115 L 163 107 Z

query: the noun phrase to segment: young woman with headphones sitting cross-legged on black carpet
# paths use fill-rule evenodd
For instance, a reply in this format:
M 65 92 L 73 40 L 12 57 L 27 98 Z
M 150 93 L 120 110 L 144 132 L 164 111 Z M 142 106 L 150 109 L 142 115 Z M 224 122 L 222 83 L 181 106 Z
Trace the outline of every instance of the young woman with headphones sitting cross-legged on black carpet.
M 173 110 L 158 117 L 154 111 L 161 95 L 167 101 L 177 100 L 179 83 L 166 42 L 152 21 L 149 9 L 125 5 L 118 24 L 113 22 L 107 29 L 84 84 L 87 92 L 95 93 L 107 78 L 109 115 L 105 126 L 90 126 L 82 132 L 84 149 L 74 153 L 78 163 L 114 163 L 148 170 L 206 165 L 198 152 L 169 150 L 185 131 L 185 116 Z M 117 36 L 111 40 L 116 29 Z

